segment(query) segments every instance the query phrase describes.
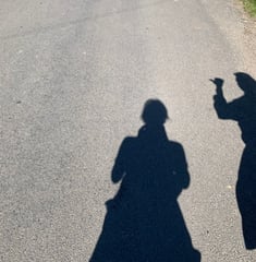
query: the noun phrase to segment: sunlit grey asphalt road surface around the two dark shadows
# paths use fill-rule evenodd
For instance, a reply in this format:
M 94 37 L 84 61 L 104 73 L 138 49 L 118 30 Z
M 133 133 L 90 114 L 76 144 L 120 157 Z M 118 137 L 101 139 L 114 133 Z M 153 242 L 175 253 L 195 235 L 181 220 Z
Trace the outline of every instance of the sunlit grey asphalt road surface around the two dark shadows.
M 211 2 L 0 0 L 0 261 L 89 260 L 118 148 L 148 98 L 186 154 L 179 203 L 202 261 L 256 261 L 235 200 L 244 145 L 209 82 L 242 94 L 243 31 L 233 1 Z

